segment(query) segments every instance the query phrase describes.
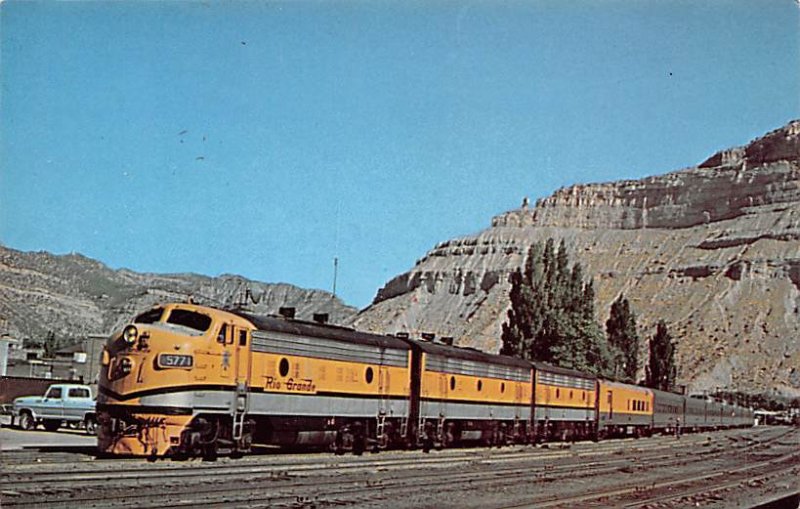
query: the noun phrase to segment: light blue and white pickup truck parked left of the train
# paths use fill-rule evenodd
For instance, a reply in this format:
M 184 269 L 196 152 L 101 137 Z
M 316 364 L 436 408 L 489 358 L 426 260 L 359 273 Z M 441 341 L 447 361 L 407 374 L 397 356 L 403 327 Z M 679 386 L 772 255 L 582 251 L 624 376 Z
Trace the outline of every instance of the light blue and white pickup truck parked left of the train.
M 14 400 L 11 410 L 11 425 L 24 430 L 35 429 L 42 424 L 47 431 L 56 431 L 65 423 L 82 425 L 86 432 L 97 432 L 97 417 L 92 390 L 87 385 L 54 384 L 47 388 L 44 397 L 23 396 Z

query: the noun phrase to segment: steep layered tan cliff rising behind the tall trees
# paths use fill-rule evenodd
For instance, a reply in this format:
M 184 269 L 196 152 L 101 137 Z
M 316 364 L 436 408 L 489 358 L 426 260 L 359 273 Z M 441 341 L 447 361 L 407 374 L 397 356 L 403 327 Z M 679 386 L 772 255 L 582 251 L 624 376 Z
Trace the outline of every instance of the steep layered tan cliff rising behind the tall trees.
M 694 168 L 524 203 L 437 245 L 353 324 L 497 351 L 508 274 L 548 237 L 593 275 L 598 322 L 620 294 L 643 339 L 667 322 L 690 390 L 800 395 L 800 121 Z

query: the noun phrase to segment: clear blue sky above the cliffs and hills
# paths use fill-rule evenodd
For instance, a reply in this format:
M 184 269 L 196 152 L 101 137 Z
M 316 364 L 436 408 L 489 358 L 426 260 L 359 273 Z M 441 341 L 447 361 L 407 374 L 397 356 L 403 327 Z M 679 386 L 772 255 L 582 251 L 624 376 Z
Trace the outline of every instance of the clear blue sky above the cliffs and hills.
M 364 307 L 437 242 L 800 117 L 761 1 L 0 4 L 0 242 Z

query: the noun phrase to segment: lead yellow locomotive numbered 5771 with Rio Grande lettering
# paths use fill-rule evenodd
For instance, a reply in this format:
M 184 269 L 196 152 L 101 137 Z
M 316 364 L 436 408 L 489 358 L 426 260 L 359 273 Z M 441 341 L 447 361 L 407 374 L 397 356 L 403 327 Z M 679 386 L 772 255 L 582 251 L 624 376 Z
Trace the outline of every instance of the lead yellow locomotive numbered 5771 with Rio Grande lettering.
M 411 347 L 390 336 L 195 304 L 137 316 L 103 352 L 99 448 L 246 452 L 253 441 L 356 450 L 408 432 Z M 368 428 L 372 428 L 371 430 Z

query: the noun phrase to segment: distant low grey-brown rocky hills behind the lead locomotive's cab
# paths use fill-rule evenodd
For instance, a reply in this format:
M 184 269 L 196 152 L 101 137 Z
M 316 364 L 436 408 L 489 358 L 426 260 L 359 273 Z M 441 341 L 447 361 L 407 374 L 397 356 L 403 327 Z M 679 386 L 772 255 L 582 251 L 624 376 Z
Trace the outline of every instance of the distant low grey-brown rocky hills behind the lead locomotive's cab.
M 135 314 L 159 302 L 186 301 L 231 307 L 249 289 L 247 309 L 276 314 L 295 307 L 297 317 L 328 313 L 343 323 L 356 313 L 332 294 L 288 284 L 267 284 L 240 276 L 140 274 L 111 270 L 90 258 L 73 254 L 24 253 L 0 247 L 0 333 L 18 339 L 80 338 L 108 334 Z M 253 300 L 258 300 L 254 304 Z

